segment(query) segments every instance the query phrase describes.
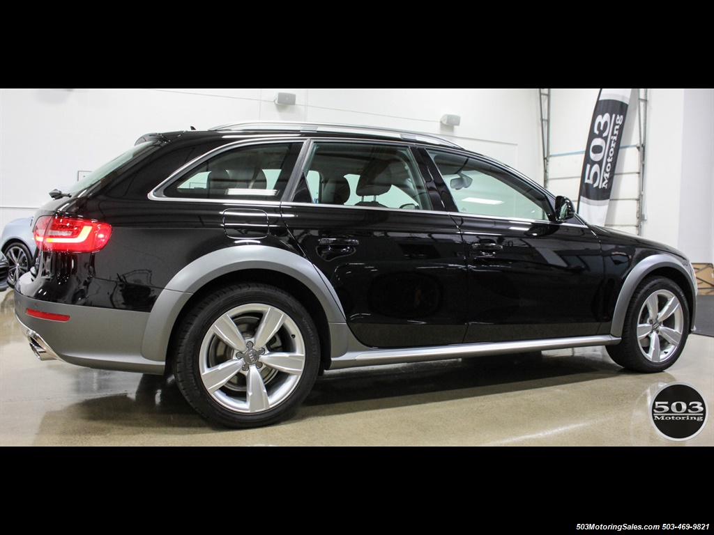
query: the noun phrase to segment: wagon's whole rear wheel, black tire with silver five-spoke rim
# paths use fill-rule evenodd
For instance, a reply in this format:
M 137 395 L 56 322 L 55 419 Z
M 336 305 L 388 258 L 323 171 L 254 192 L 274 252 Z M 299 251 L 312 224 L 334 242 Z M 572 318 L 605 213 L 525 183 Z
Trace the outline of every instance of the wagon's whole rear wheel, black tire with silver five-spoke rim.
M 176 339 L 176 382 L 208 421 L 232 428 L 291 416 L 318 374 L 316 327 L 276 287 L 223 288 L 198 303 Z

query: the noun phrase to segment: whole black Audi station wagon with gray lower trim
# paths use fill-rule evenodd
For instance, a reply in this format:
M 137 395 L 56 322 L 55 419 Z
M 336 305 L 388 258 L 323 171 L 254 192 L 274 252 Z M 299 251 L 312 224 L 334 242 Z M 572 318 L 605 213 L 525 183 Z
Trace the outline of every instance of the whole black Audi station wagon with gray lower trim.
M 288 417 L 346 367 L 604 345 L 659 372 L 693 325 L 682 253 L 424 133 L 151 133 L 50 195 L 15 287 L 35 354 L 174 374 L 227 427 Z

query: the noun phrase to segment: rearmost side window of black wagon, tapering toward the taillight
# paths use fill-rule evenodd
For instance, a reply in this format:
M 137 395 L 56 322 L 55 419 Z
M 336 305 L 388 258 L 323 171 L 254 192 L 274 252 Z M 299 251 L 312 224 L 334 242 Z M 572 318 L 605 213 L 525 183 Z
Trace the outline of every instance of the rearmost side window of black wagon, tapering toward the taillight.
M 173 198 L 279 200 L 301 143 L 234 148 L 191 168 L 163 190 Z

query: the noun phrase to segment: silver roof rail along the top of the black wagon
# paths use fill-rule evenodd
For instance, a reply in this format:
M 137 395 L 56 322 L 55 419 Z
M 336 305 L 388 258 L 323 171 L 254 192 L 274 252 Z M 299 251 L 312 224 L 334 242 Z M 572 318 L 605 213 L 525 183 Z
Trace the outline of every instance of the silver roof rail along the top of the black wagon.
M 407 141 L 426 141 L 453 148 L 461 146 L 448 139 L 430 133 L 396 130 L 380 126 L 360 126 L 338 123 L 305 123 L 301 121 L 263 121 L 260 123 L 233 123 L 209 128 L 211 131 L 296 131 L 296 132 L 333 132 L 333 133 L 373 133 Z

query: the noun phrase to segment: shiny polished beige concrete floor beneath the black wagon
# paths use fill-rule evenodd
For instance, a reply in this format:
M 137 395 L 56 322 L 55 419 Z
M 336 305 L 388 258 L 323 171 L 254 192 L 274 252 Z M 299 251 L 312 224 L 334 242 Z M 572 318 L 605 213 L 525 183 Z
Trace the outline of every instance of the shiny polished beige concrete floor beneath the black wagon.
M 714 409 L 714 338 L 690 336 L 667 372 L 625 372 L 603 348 L 327 372 L 293 419 L 212 427 L 161 377 L 34 357 L 0 294 L 1 446 L 714 446 L 714 422 L 677 442 L 650 422 L 670 382 Z

